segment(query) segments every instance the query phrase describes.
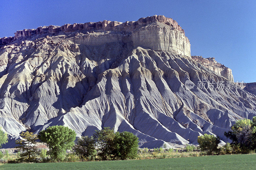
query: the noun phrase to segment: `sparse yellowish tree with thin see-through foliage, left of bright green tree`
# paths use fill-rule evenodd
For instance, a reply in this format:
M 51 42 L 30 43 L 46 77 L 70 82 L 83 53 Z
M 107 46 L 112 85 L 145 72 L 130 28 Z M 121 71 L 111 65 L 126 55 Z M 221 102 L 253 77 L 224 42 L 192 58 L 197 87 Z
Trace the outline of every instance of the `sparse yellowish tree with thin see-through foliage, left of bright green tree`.
M 32 132 L 21 132 L 20 137 L 23 139 L 16 140 L 17 151 L 20 152 L 20 160 L 31 162 L 36 158 L 38 150 L 36 148 L 37 135 Z

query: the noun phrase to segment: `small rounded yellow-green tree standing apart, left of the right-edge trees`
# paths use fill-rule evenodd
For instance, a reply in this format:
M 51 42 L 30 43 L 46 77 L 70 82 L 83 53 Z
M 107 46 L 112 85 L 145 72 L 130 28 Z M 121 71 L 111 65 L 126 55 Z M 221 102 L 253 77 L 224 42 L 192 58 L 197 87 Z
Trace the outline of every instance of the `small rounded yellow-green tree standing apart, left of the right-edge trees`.
M 218 152 L 218 144 L 220 143 L 220 138 L 214 135 L 204 134 L 203 136 L 197 137 L 197 142 L 202 151 L 206 152 L 208 155 Z

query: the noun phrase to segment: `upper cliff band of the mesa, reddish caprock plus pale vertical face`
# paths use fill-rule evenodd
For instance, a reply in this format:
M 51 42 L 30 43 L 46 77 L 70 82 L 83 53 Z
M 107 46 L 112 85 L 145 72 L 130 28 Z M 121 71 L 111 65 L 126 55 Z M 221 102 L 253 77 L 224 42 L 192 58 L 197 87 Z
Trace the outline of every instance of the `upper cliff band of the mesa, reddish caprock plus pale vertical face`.
M 89 22 L 84 24 L 66 24 L 63 26 L 40 26 L 37 29 L 24 29 L 14 33 L 14 37 L 0 39 L 0 45 L 6 45 L 20 38 L 42 34 L 58 34 L 68 32 L 83 32 L 76 37 L 75 42 L 97 45 L 105 41 L 126 41 L 134 47 L 143 46 L 152 50 L 175 51 L 181 55 L 190 56 L 190 43 L 184 30 L 172 18 L 162 15 L 140 18 L 138 21 Z M 107 32 L 107 34 L 105 33 Z M 102 36 L 103 36 L 103 42 Z M 108 35 L 105 36 L 105 35 Z M 79 40 L 80 38 L 81 40 Z M 110 38 L 108 40 L 108 38 Z M 168 43 L 166 43 L 168 42 Z M 92 45 L 91 44 L 91 45 Z

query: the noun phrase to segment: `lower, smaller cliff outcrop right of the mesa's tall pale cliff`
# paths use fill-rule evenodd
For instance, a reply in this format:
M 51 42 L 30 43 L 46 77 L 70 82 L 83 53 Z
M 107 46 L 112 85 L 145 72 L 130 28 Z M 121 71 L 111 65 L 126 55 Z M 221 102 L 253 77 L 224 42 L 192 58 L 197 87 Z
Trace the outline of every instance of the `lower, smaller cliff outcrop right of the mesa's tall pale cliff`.
M 214 57 L 210 58 L 203 58 L 202 56 L 191 56 L 193 60 L 197 63 L 204 65 L 204 67 L 212 70 L 219 75 L 227 78 L 228 80 L 234 82 L 232 70 L 228 67 L 224 66 L 223 64 L 218 63 Z

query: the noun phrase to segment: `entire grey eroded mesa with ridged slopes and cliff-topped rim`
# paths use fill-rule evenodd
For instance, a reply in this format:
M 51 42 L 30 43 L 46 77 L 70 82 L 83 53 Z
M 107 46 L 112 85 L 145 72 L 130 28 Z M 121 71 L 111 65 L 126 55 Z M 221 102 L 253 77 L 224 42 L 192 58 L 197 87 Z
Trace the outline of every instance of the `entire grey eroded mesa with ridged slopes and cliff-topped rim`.
M 5 147 L 21 131 L 53 125 L 68 126 L 78 137 L 103 127 L 130 131 L 148 148 L 197 144 L 204 133 L 227 141 L 223 133 L 236 120 L 256 115 L 253 94 L 233 84 L 225 88 L 231 70 L 191 58 L 184 31 L 164 16 L 40 27 L 1 43 Z M 206 84 L 196 88 L 198 82 Z

